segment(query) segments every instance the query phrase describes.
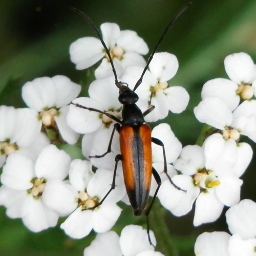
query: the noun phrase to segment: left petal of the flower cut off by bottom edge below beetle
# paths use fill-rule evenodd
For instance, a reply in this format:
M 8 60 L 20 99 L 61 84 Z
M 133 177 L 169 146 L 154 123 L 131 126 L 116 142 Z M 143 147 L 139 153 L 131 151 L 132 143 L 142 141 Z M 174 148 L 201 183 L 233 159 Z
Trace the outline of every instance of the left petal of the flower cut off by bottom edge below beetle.
M 114 231 L 98 233 L 83 251 L 83 256 L 122 256 L 118 234 Z

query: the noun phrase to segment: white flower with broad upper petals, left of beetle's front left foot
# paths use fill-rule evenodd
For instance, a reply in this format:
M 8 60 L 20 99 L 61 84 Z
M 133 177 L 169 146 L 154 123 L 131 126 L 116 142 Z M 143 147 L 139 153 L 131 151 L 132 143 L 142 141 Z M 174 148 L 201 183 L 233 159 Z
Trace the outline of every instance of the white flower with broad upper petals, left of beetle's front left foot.
M 29 108 L 39 113 L 43 127 L 59 132 L 69 144 L 76 143 L 78 134 L 67 124 L 68 104 L 77 97 L 81 87 L 66 76 L 36 78 L 24 84 L 22 97 Z M 38 119 L 38 118 L 37 118 Z

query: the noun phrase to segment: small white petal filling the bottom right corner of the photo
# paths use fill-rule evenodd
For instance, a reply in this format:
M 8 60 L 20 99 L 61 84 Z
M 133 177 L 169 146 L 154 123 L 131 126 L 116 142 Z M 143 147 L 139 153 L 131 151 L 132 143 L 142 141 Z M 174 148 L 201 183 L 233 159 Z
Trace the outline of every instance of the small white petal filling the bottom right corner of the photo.
M 256 239 L 243 240 L 239 234 L 233 234 L 229 239 L 228 252 L 230 256 L 255 256 Z

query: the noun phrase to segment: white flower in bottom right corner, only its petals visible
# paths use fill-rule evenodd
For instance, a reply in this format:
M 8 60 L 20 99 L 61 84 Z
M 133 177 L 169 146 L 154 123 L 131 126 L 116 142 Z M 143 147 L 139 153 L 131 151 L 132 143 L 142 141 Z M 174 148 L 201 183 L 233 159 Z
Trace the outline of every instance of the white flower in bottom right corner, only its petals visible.
M 256 251 L 256 203 L 244 199 L 226 212 L 229 231 L 204 232 L 195 243 L 200 256 L 254 256 Z

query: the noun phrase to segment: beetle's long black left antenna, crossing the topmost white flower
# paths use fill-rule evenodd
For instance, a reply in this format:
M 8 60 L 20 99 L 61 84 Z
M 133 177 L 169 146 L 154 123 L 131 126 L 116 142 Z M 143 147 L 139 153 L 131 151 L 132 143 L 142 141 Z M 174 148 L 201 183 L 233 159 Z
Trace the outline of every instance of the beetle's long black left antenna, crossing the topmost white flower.
M 108 47 L 106 47 L 106 44 L 105 44 L 100 32 L 98 31 L 98 29 L 96 28 L 96 26 L 94 25 L 92 20 L 84 12 L 82 12 L 82 11 L 80 11 L 80 10 L 74 8 L 74 7 L 71 7 L 71 10 L 78 13 L 83 19 L 85 19 L 88 22 L 88 24 L 91 26 L 91 28 L 94 30 L 94 32 L 97 34 L 98 38 L 101 41 L 102 46 L 104 47 L 104 49 L 106 51 L 106 54 L 109 57 L 110 64 L 111 64 L 111 67 L 112 67 L 112 70 L 113 70 L 113 73 L 114 73 L 114 76 L 115 76 L 116 86 L 120 89 L 120 82 L 118 82 L 118 79 L 117 79 L 117 74 L 116 74 L 114 63 L 113 63 L 113 59 L 111 57 L 111 54 L 110 54 L 110 51 L 109 51 Z

